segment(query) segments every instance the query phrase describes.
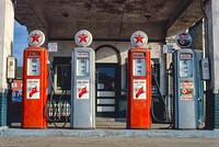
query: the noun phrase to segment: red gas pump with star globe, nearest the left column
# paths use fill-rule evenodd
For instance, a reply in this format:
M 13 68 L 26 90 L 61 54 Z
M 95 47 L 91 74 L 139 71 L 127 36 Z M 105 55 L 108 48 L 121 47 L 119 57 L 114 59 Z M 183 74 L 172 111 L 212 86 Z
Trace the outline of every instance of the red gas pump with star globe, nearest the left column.
M 44 108 L 47 101 L 48 88 L 48 53 L 46 48 L 41 47 L 44 42 L 43 32 L 32 31 L 28 35 L 31 46 L 24 49 L 22 127 L 47 127 Z

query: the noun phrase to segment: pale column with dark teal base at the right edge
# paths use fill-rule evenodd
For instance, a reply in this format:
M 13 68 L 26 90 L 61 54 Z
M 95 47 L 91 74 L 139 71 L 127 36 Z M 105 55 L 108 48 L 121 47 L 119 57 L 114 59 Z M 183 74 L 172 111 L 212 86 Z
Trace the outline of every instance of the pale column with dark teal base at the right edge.
M 206 56 L 210 65 L 210 80 L 207 82 L 206 127 L 219 128 L 219 3 L 209 0 L 206 13 Z

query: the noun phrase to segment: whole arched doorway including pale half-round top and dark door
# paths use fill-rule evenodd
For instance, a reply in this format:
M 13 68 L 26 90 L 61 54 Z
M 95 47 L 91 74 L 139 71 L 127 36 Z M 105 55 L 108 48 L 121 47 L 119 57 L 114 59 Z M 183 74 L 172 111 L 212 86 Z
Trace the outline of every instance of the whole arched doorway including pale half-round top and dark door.
M 95 49 L 96 117 L 116 117 L 120 92 L 120 53 L 112 45 Z

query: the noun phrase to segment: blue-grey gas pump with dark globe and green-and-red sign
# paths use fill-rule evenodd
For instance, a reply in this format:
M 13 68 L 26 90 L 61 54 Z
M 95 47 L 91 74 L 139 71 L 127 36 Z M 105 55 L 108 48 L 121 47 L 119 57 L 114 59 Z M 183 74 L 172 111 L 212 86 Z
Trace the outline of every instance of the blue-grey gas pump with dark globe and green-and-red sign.
M 181 49 L 173 54 L 174 70 L 174 127 L 198 128 L 199 109 L 203 105 L 203 82 L 198 80 L 200 52 L 192 50 L 192 37 L 188 33 L 176 35 Z M 203 110 L 203 109 L 201 109 Z

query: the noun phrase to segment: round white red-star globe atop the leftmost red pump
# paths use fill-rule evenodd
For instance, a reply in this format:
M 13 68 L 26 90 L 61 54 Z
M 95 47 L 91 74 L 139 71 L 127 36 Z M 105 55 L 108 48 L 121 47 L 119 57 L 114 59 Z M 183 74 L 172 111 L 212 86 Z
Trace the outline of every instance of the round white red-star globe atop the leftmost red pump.
M 31 46 L 42 46 L 45 42 L 45 35 L 42 31 L 35 30 L 28 34 L 28 44 Z

